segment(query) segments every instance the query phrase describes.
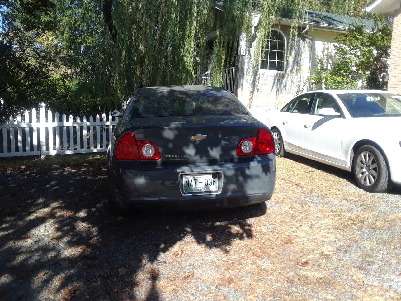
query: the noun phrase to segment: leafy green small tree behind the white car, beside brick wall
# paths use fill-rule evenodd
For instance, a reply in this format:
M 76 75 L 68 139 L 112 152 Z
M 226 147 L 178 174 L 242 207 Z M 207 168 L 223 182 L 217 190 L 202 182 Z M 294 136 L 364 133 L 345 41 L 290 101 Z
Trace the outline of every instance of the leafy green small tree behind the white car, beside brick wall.
M 321 60 L 314 70 L 317 74 L 310 77 L 312 84 L 348 89 L 358 88 L 358 81 L 362 81 L 362 88 L 387 89 L 391 30 L 383 17 L 374 18 L 372 32 L 358 23 L 338 35 L 333 66 L 326 66 Z

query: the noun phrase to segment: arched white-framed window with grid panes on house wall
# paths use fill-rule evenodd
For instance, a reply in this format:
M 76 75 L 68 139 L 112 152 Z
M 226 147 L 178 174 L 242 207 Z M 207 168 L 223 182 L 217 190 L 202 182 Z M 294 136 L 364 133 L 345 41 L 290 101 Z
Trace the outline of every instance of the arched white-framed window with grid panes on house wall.
M 286 39 L 277 29 L 272 29 L 266 45 L 260 51 L 260 69 L 284 71 Z

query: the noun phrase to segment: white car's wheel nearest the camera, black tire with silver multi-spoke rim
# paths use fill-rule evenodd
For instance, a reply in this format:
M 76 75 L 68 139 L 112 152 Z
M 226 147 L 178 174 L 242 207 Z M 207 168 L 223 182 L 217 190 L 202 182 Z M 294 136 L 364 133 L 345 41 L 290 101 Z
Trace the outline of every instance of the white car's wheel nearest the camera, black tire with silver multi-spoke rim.
M 393 187 L 389 181 L 386 160 L 375 146 L 364 145 L 358 149 L 352 163 L 352 170 L 356 183 L 365 191 L 386 192 Z

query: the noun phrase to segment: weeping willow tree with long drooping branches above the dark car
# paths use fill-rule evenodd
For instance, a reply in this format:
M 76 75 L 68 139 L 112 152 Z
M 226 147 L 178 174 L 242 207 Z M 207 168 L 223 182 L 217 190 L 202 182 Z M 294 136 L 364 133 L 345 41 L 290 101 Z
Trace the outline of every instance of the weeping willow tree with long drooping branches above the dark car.
M 221 85 L 231 67 L 242 29 L 252 37 L 252 16 L 260 14 L 255 49 L 266 43 L 274 22 L 284 13 L 294 20 L 291 35 L 305 11 L 323 0 L 60 0 L 55 16 L 67 17 L 70 52 L 81 57 L 78 73 L 102 106 L 125 100 L 143 86 L 194 83 L 209 55 L 208 36 L 215 32 L 212 84 Z M 316 2 L 316 4 L 314 4 Z M 327 1 L 326 1 L 327 2 Z M 360 5 L 334 0 L 339 12 Z M 258 55 L 255 55 L 255 64 Z

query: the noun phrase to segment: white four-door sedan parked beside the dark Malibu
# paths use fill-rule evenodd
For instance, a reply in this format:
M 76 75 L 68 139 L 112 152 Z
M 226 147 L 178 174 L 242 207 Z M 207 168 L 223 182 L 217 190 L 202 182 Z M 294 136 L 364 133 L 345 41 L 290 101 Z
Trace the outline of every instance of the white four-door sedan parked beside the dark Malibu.
M 276 153 L 293 153 L 354 173 L 371 192 L 401 184 L 401 96 L 375 90 L 301 94 L 268 120 Z

